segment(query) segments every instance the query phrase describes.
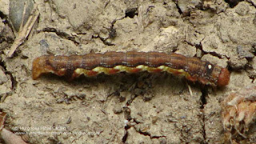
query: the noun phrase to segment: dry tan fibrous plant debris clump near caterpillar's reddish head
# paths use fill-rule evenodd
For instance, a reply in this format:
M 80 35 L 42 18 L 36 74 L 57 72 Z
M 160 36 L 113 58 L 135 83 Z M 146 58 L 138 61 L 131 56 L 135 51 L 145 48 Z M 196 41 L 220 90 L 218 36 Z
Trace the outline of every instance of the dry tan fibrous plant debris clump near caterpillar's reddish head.
M 250 138 L 256 114 L 256 86 L 248 86 L 230 94 L 222 102 L 222 119 L 226 140 L 255 142 Z

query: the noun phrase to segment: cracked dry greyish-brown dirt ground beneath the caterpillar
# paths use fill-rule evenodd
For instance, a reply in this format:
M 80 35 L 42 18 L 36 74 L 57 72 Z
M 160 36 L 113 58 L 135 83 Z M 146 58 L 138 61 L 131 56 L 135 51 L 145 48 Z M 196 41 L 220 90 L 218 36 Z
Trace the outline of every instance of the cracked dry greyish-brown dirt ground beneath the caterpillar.
M 255 85 L 254 0 L 35 3 L 38 25 L 14 58 L 6 58 L 14 34 L 3 21 L 8 9 L 0 6 L 0 98 L 6 97 L 0 109 L 8 113 L 6 128 L 26 132 L 30 143 L 221 143 L 222 100 Z M 74 82 L 51 74 L 31 78 L 33 59 L 43 54 L 129 50 L 175 52 L 228 66 L 230 84 L 215 89 L 148 73 Z

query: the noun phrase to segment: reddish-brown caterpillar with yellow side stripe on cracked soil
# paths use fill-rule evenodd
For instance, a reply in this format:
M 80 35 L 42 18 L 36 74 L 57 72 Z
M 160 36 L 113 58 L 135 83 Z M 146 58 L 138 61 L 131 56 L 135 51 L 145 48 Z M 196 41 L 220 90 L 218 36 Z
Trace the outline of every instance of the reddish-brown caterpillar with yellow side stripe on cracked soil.
M 42 74 L 53 73 L 72 80 L 81 74 L 95 76 L 100 73 L 137 73 L 145 70 L 166 71 L 182 75 L 192 82 L 198 81 L 211 86 L 226 86 L 230 81 L 229 70 L 199 58 L 187 58 L 175 53 L 137 51 L 71 56 L 44 55 L 34 59 L 32 78 L 37 79 Z

